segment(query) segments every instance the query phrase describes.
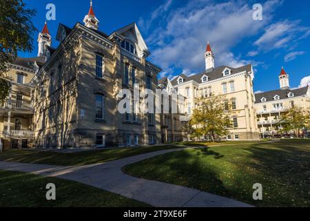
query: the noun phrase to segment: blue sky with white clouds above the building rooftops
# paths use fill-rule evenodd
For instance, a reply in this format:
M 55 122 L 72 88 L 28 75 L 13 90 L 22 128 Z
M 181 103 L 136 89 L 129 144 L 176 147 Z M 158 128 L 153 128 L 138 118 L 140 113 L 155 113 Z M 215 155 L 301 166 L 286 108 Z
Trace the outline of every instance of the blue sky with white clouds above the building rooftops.
M 37 10 L 34 25 L 41 31 L 45 6 L 54 3 L 56 21 L 48 28 L 56 47 L 59 23 L 72 27 L 82 22 L 89 0 L 25 0 Z M 262 21 L 252 19 L 252 6 L 262 4 Z M 114 30 L 136 22 L 151 51 L 148 58 L 163 68 L 161 77 L 180 73 L 192 75 L 204 70 L 206 42 L 209 39 L 216 66 L 253 64 L 254 90 L 279 88 L 278 75 L 284 66 L 291 88 L 310 82 L 310 1 L 211 1 L 211 0 L 93 0 L 100 30 Z M 34 51 L 20 56 L 37 55 Z M 302 81 L 302 82 L 301 82 Z

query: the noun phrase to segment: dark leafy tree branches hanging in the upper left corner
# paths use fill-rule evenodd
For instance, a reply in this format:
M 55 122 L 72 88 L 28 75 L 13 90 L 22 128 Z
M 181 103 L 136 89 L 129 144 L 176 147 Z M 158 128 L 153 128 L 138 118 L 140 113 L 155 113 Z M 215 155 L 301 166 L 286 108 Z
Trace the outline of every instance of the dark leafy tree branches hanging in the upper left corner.
M 18 51 L 33 50 L 32 36 L 37 31 L 32 23 L 35 13 L 22 0 L 0 1 L 0 103 L 10 90 L 10 79 L 4 75 L 8 64 L 17 58 Z

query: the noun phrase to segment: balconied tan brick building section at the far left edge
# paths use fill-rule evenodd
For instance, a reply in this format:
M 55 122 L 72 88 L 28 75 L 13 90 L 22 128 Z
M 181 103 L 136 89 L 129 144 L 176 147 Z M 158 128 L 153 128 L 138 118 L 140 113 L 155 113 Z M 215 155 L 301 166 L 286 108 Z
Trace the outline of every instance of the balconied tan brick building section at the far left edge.
M 33 144 L 32 103 L 33 86 L 29 82 L 39 66 L 41 57 L 18 57 L 14 64 L 9 64 L 6 77 L 11 80 L 10 95 L 0 104 L 0 139 L 3 148 L 28 148 Z

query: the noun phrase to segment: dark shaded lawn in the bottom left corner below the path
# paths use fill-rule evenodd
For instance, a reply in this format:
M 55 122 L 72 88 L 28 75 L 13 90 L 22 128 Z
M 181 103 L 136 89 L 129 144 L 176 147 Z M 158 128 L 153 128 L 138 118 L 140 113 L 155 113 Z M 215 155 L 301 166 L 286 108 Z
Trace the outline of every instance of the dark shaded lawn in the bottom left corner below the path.
M 56 186 L 56 200 L 46 200 L 45 186 Z M 0 207 L 149 206 L 92 186 L 54 177 L 0 170 Z

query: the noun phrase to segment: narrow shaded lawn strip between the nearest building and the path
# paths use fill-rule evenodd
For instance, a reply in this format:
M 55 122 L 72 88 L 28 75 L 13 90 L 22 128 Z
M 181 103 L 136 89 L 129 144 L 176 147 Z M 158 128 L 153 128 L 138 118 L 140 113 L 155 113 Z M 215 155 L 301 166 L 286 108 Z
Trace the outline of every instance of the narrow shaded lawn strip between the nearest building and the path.
M 0 161 L 23 162 L 33 164 L 50 164 L 61 166 L 82 166 L 87 164 L 103 163 L 118 160 L 124 157 L 176 148 L 174 145 L 136 147 L 136 148 L 112 148 L 78 153 L 59 153 L 52 151 L 34 150 L 9 150 L 0 153 Z

